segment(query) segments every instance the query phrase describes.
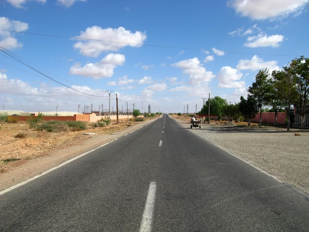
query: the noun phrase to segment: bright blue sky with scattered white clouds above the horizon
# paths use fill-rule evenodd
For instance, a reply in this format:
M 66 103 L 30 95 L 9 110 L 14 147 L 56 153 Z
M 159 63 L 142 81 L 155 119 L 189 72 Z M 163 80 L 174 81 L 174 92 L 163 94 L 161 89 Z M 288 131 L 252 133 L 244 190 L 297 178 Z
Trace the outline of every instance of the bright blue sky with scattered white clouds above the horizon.
M 2 0 L 0 110 L 194 113 L 309 57 L 309 0 Z M 17 61 L 18 60 L 18 61 Z

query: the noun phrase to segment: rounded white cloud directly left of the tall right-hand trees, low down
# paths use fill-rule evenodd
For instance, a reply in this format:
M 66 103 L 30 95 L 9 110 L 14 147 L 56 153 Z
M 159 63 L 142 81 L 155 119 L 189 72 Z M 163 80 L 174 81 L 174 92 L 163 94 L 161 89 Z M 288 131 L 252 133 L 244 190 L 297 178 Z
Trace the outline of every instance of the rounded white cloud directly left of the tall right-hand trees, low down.
M 242 73 L 240 73 L 237 69 L 232 69 L 229 66 L 222 67 L 217 74 L 217 78 L 219 80 L 218 87 L 243 88 L 245 85 L 245 81 L 238 81 L 241 79 L 241 77 Z

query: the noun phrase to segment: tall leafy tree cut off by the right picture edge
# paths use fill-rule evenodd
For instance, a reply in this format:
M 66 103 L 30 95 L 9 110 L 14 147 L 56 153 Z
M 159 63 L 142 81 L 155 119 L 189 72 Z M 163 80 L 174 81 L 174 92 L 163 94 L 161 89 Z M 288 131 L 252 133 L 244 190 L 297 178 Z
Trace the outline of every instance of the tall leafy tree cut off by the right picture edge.
M 301 56 L 292 60 L 290 71 L 296 76 L 296 90 L 298 92 L 297 110 L 301 116 L 301 128 L 305 127 L 305 106 L 309 98 L 309 59 Z

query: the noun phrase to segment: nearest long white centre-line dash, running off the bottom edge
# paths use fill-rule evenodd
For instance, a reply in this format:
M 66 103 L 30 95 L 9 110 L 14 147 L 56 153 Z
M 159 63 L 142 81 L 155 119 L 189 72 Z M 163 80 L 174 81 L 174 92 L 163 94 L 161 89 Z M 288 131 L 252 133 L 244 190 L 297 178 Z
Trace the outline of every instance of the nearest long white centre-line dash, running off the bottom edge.
M 140 232 L 150 232 L 154 216 L 156 183 L 150 182 Z

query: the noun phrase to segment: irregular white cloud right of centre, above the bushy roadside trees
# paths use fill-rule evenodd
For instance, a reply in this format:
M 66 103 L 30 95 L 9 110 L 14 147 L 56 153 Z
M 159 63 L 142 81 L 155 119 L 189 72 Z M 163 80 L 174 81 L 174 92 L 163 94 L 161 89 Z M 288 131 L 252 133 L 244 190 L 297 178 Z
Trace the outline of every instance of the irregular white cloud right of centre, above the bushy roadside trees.
M 179 61 L 172 66 L 180 68 L 183 70 L 183 73 L 190 75 L 190 84 L 196 85 L 202 82 L 208 82 L 215 77 L 212 72 L 206 71 L 206 69 L 196 57 L 189 60 Z

